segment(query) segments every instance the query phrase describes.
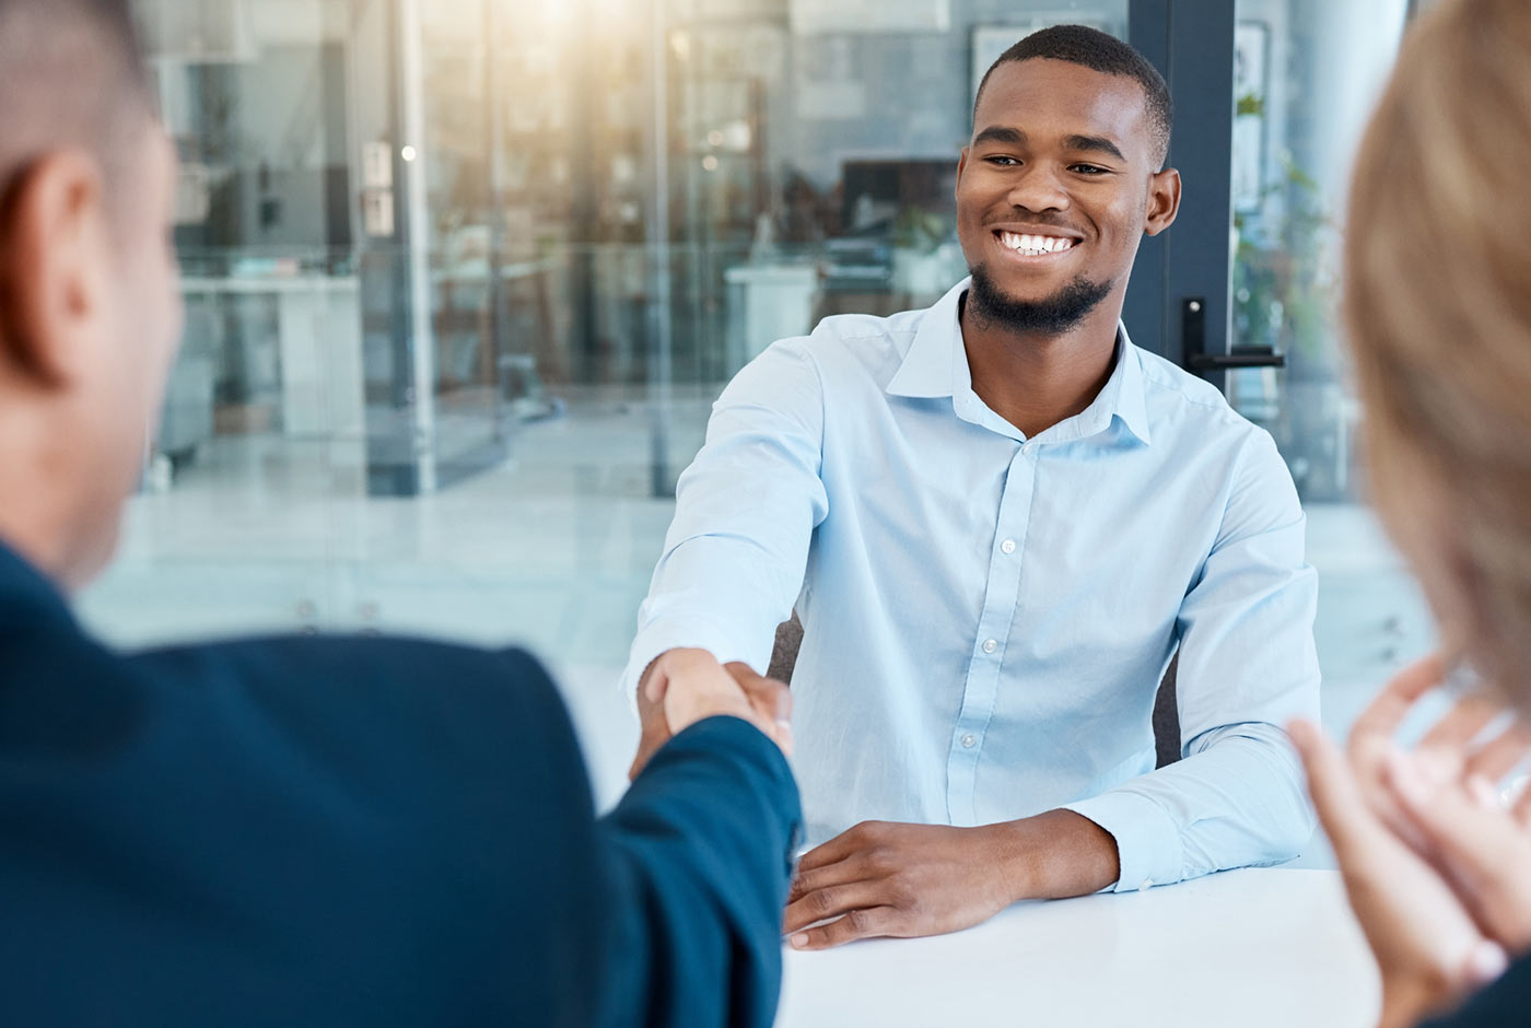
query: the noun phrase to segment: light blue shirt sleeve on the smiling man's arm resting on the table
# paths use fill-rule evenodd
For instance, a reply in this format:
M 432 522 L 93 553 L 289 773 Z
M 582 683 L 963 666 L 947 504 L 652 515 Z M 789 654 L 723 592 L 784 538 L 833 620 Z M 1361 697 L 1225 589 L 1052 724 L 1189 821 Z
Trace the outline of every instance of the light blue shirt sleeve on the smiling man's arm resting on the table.
M 1182 760 L 1066 807 L 1116 840 L 1118 890 L 1280 864 L 1312 836 L 1281 728 L 1318 719 L 1318 578 L 1304 524 L 1275 443 L 1252 432 L 1219 538 L 1180 605 Z

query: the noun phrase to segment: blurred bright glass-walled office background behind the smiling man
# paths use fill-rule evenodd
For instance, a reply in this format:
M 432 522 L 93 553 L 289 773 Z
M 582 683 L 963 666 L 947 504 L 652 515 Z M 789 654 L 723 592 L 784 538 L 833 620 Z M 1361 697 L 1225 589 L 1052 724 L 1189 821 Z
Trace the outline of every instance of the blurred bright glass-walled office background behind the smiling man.
M 1275 435 L 1309 513 L 1335 731 L 1431 639 L 1363 506 L 1334 316 L 1350 150 L 1412 6 L 1234 5 L 1228 342 L 1286 368 L 1229 372 L 1226 389 Z M 527 643 L 559 670 L 609 800 L 635 738 L 615 676 L 723 383 L 819 317 L 926 305 L 961 277 L 952 188 L 977 77 L 1035 28 L 1127 37 L 1144 8 L 139 14 L 181 155 L 188 317 L 86 620 L 124 645 L 266 630 Z

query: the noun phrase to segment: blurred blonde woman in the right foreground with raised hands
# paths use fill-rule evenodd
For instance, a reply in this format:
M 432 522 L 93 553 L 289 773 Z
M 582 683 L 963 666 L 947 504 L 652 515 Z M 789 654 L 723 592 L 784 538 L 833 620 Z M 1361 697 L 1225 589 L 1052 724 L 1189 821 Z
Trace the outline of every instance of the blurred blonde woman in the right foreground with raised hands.
M 1292 737 L 1382 974 L 1386 1028 L 1531 1020 L 1531 3 L 1444 0 L 1361 147 L 1346 320 L 1376 506 L 1441 624 L 1344 754 Z M 1462 696 L 1412 749 L 1395 731 Z M 1482 683 L 1476 686 L 1473 683 Z

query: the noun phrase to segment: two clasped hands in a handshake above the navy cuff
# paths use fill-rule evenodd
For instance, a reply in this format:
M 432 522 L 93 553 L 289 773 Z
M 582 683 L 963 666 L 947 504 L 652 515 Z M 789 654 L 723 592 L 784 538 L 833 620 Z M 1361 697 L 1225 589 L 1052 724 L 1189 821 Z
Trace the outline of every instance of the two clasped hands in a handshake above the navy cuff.
M 727 666 L 706 650 L 668 650 L 655 657 L 638 683 L 643 734 L 629 778 L 672 735 L 707 717 L 738 717 L 792 755 L 792 692 L 784 682 L 755 674 L 744 663 Z

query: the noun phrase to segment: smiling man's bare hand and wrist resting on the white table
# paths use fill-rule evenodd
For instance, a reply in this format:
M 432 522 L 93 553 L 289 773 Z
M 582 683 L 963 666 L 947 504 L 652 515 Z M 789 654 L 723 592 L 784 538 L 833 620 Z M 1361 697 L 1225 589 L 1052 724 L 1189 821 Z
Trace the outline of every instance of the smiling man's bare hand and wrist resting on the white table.
M 863 821 L 802 856 L 782 928 L 798 950 L 945 935 L 1116 875 L 1116 841 L 1069 810 L 971 829 Z

